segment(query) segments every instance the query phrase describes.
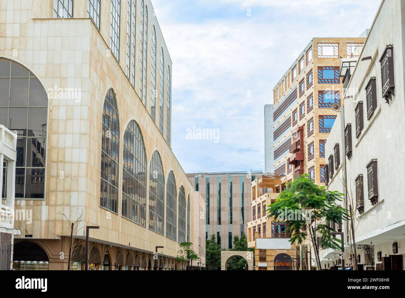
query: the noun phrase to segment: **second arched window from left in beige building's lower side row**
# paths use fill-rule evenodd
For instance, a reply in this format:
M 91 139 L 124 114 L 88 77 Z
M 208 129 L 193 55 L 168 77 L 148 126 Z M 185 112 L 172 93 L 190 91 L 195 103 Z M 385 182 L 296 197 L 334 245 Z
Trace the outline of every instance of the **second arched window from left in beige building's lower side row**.
M 141 129 L 132 120 L 124 134 L 122 216 L 146 227 L 146 153 Z

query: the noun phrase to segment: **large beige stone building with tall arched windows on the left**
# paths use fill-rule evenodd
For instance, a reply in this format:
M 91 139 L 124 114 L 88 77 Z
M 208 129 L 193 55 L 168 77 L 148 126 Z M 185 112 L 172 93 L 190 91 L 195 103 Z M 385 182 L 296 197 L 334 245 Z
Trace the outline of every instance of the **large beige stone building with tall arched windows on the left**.
M 178 269 L 193 186 L 171 150 L 172 62 L 150 0 L 0 2 L 15 131 L 15 269 Z M 153 253 L 158 248 L 158 258 Z M 61 257 L 64 256 L 64 257 Z

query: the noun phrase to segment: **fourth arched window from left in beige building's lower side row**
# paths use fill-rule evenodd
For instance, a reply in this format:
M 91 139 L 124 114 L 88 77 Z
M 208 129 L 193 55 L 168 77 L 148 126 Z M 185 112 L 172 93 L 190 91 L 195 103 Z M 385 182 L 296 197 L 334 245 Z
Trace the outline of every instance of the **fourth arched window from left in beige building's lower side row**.
M 177 187 L 173 171 L 170 171 L 166 185 L 166 237 L 177 239 Z

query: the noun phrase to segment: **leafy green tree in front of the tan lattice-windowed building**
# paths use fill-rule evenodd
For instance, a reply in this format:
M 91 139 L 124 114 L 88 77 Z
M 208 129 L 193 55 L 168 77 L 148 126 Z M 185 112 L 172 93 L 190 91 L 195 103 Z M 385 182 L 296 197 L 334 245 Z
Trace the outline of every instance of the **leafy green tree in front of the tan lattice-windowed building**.
M 305 240 L 311 241 L 318 270 L 321 270 L 319 249 L 341 248 L 341 240 L 330 234 L 337 231 L 325 223 L 342 224 L 343 220 L 347 220 L 347 209 L 337 204 L 343 196 L 343 193 L 318 186 L 308 174 L 303 174 L 288 183 L 275 203 L 269 205 L 268 217 L 274 216 L 277 221 L 287 223 L 286 233 L 291 243 L 304 244 Z

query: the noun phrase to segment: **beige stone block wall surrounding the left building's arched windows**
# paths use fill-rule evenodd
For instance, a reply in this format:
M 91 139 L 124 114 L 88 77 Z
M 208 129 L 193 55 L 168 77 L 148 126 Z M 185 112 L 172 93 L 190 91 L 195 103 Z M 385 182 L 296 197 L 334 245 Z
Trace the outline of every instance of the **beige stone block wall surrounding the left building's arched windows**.
M 108 1 L 107 1 L 108 2 Z M 130 120 L 135 120 L 143 133 L 147 154 L 147 171 L 154 150 L 162 158 L 165 184 L 169 171 L 173 171 L 177 188 L 185 188 L 186 202 L 190 195 L 193 204 L 192 184 L 185 175 L 170 146 L 166 143 L 166 90 L 167 67 L 171 59 L 164 39 L 149 7 L 147 49 L 147 105 L 139 99 L 140 61 L 140 1 L 136 1 L 136 79 L 135 87 L 125 75 L 126 53 L 126 1 L 121 6 L 120 62 L 109 52 L 109 10 L 102 1 L 100 31 L 91 19 L 46 19 L 51 17 L 49 1 L 0 1 L 0 57 L 26 66 L 38 77 L 45 90 L 77 88 L 80 101 L 50 98 L 48 105 L 47 164 L 45 199 L 16 200 L 16 208 L 32 210 L 32 223 L 17 221 L 16 228 L 33 238 L 57 238 L 70 234 L 69 221 L 76 221 L 83 212 L 79 234 L 85 225 L 99 225 L 91 237 L 117 244 L 155 251 L 164 246 L 164 253 L 176 255 L 178 243 L 151 232 L 149 229 L 124 219 L 121 214 L 119 192 L 118 214 L 100 207 L 100 156 L 101 125 L 104 97 L 113 88 L 117 94 L 119 112 L 120 147 L 122 160 L 123 136 Z M 86 1 L 75 1 L 74 16 L 86 17 Z M 86 11 L 83 8 L 86 7 Z M 23 10 L 21 10 L 23 9 Z M 32 19 L 34 18 L 35 19 Z M 156 28 L 157 59 L 156 87 L 159 86 L 160 48 L 164 52 L 164 135 L 159 125 L 159 89 L 156 98 L 156 122 L 150 116 L 151 107 L 151 30 Z M 172 71 L 172 70 L 171 70 Z M 61 175 L 63 174 L 63 179 Z M 149 175 L 149 173 L 148 173 Z M 149 179 L 147 179 L 149 181 Z M 147 185 L 147 198 L 149 184 Z M 122 161 L 119 165 L 119 190 L 122 189 Z M 165 208 L 166 209 L 166 208 Z M 190 208 L 193 218 L 193 208 Z M 147 216 L 148 216 L 147 210 Z M 148 219 L 148 217 L 147 217 Z M 27 232 L 25 232 L 27 231 Z M 190 223 L 191 238 L 193 222 Z

